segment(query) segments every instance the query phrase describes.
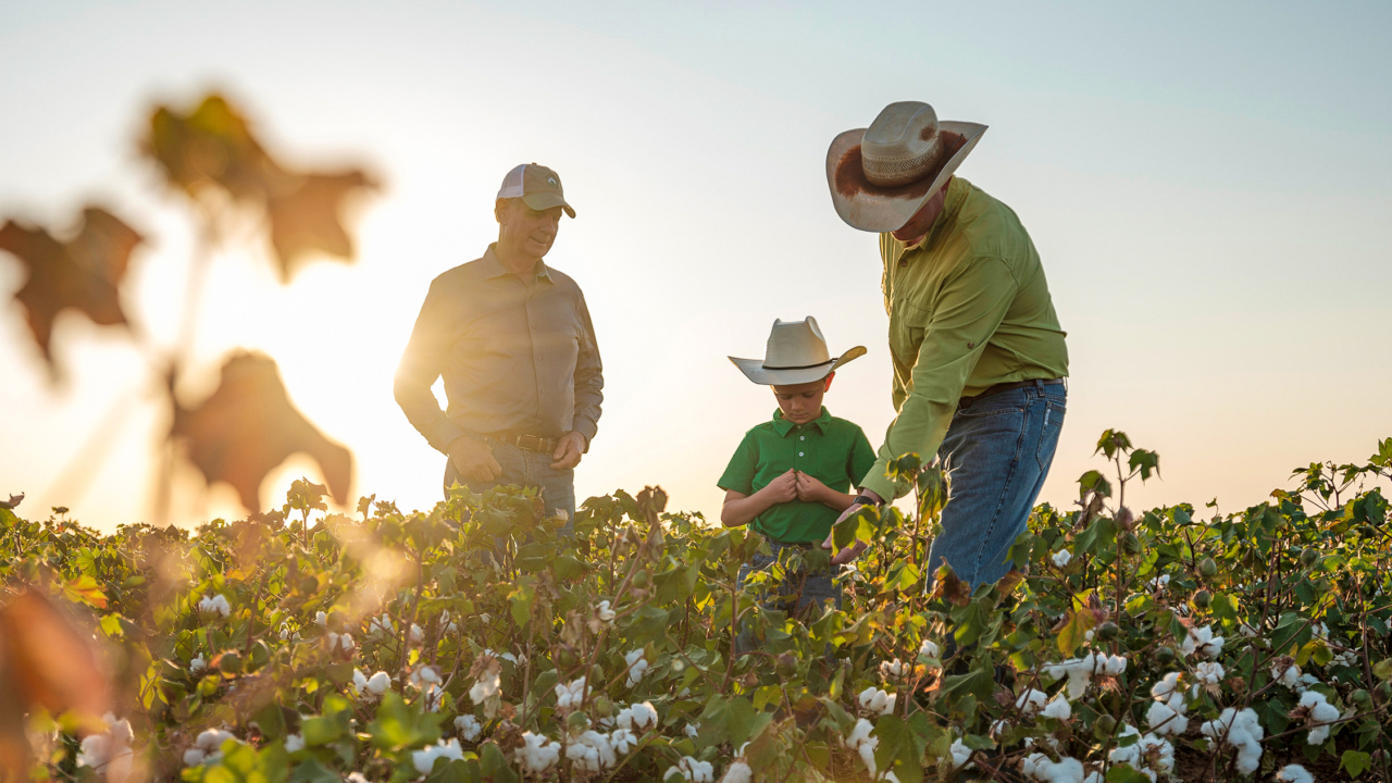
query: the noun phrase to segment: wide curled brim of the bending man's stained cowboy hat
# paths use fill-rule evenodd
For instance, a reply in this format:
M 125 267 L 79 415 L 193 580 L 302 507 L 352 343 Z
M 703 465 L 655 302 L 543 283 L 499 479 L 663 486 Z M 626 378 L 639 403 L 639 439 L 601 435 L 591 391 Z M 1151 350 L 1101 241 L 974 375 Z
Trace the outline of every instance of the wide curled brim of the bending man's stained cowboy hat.
M 832 139 L 827 149 L 827 185 L 831 188 L 831 203 L 835 205 L 837 215 L 848 226 L 862 231 L 902 228 L 962 166 L 976 142 L 981 141 L 986 125 L 944 120 L 938 123 L 938 130 L 952 134 L 945 139 L 949 148 L 955 146 L 952 155 L 935 174 L 895 188 L 883 188 L 866 180 L 860 166 L 860 139 L 864 138 L 866 128 L 846 131 Z

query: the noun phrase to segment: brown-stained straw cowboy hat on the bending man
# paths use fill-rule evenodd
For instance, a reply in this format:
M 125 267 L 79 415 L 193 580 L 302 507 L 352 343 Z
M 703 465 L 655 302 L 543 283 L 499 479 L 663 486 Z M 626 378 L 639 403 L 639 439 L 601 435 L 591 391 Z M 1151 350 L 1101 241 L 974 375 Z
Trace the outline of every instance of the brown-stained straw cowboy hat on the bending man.
M 837 215 L 862 231 L 896 231 L 938 192 L 981 141 L 986 125 L 938 120 L 927 103 L 905 100 L 869 128 L 838 135 L 827 150 Z

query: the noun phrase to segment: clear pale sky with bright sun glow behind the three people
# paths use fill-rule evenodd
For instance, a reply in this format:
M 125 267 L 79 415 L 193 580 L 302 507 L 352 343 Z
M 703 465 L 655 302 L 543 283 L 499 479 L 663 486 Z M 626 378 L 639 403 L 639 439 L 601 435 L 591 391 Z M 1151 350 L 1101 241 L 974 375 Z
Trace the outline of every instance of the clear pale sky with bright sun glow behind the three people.
M 277 284 L 264 248 L 212 268 L 202 389 L 262 350 L 356 456 L 356 493 L 426 509 L 444 457 L 391 376 L 436 274 L 496 238 L 503 174 L 554 167 L 579 219 L 547 262 L 583 287 L 606 365 L 587 495 L 715 481 L 774 410 L 725 359 L 774 318 L 869 347 L 828 396 L 876 446 L 892 418 L 876 237 L 837 219 L 831 138 L 894 100 L 990 125 L 959 174 L 1029 228 L 1068 330 L 1069 412 L 1041 500 L 1066 504 L 1098 433 L 1161 454 L 1139 504 L 1226 511 L 1311 460 L 1392 436 L 1392 6 L 1385 3 L 82 3 L 0 6 L 0 216 L 54 228 L 88 199 L 150 237 L 125 307 L 168 341 L 187 208 L 134 139 L 156 103 L 221 89 L 273 153 L 386 181 L 354 266 Z M 0 492 L 100 528 L 149 518 L 167 428 L 120 330 L 60 319 L 54 390 L 0 259 Z M 195 379 L 182 392 L 199 394 Z M 102 422 L 103 458 L 65 472 Z M 266 506 L 290 481 L 263 486 Z M 185 476 L 187 478 L 187 476 Z M 184 482 L 182 524 L 239 515 Z

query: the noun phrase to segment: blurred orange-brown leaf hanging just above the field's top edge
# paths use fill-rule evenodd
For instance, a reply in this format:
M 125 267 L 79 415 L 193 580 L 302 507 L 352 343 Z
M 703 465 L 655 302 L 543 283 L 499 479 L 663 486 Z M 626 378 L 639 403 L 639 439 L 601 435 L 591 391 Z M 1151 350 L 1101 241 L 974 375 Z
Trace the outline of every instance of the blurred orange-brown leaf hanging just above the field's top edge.
M 347 503 L 352 453 L 326 437 L 294 404 L 274 359 L 238 351 L 224 364 L 213 394 L 193 408 L 175 404 L 173 437 L 209 483 L 226 481 L 242 506 L 260 510 L 259 490 L 271 470 L 309 454 L 337 503 Z

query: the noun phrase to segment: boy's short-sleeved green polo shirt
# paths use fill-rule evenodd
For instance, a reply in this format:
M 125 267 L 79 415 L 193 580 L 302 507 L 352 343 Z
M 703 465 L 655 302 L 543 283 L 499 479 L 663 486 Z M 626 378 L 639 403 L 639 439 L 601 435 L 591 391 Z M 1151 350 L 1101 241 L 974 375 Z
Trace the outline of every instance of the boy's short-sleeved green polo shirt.
M 866 433 L 825 407 L 807 424 L 792 424 L 782 411 L 774 411 L 773 421 L 745 433 L 720 476 L 720 488 L 753 495 L 795 468 L 837 492 L 851 492 L 871 465 L 874 449 Z M 792 500 L 759 514 L 753 527 L 782 543 L 821 543 L 839 515 L 823 503 Z

